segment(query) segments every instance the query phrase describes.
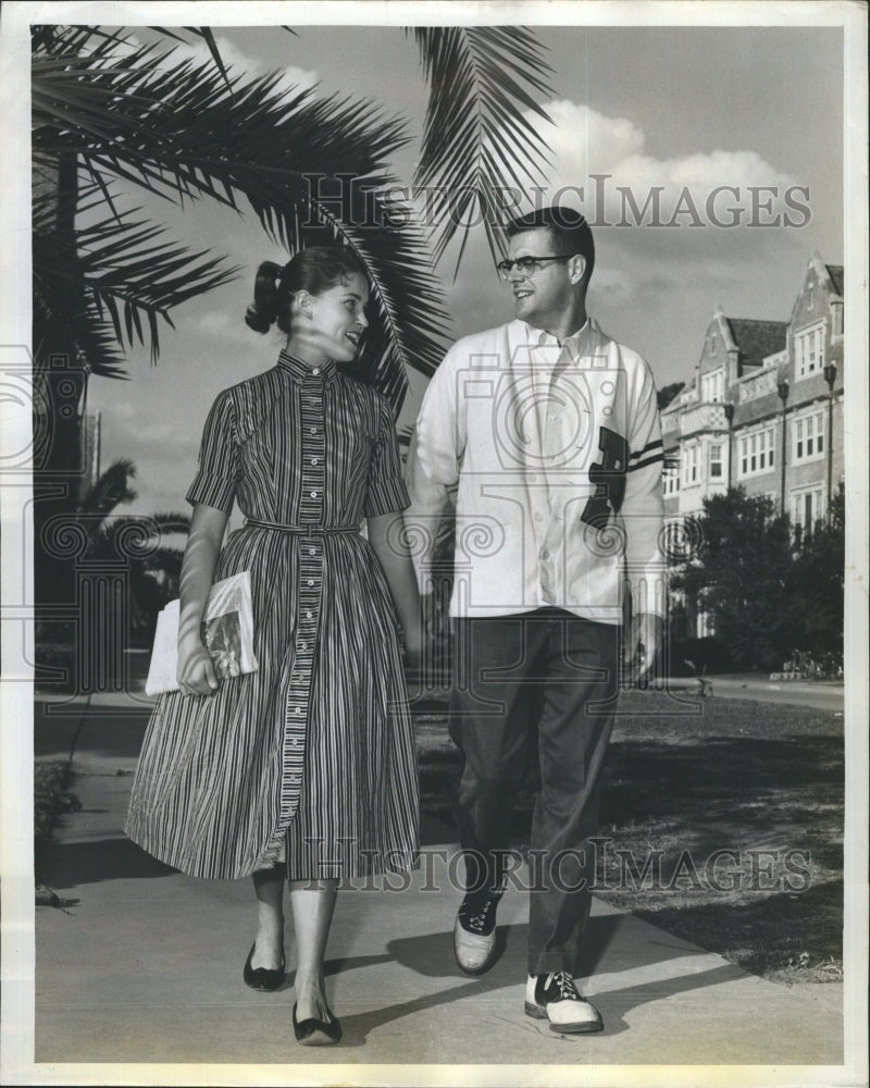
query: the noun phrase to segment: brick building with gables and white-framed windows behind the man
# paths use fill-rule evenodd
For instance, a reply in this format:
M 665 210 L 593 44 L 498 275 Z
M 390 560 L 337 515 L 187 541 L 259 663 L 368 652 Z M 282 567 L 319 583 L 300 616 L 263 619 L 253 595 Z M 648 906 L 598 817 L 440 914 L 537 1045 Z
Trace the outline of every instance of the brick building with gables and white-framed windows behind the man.
M 718 307 L 695 374 L 661 422 L 670 521 L 743 486 L 811 531 L 844 478 L 842 267 L 813 252 L 787 321 Z M 710 633 L 703 615 L 695 627 Z

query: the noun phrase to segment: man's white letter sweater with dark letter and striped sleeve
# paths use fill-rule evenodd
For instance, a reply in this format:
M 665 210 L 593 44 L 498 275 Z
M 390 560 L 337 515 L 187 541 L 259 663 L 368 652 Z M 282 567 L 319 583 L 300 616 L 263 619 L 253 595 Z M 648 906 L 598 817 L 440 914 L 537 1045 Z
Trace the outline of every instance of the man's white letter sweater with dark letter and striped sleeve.
M 558 606 L 664 615 L 662 445 L 649 367 L 589 320 L 561 349 L 511 321 L 458 341 L 435 372 L 407 466 L 422 592 L 457 511 L 452 616 Z

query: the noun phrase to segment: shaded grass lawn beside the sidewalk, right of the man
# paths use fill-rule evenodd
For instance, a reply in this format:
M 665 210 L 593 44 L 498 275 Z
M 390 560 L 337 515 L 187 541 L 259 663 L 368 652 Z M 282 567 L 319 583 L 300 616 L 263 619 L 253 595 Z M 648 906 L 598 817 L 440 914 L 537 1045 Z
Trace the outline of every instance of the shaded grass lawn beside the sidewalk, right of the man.
M 457 756 L 415 715 L 422 804 L 451 824 Z M 530 768 L 511 826 L 529 846 Z M 843 716 L 630 691 L 605 770 L 596 893 L 776 981 L 842 978 Z

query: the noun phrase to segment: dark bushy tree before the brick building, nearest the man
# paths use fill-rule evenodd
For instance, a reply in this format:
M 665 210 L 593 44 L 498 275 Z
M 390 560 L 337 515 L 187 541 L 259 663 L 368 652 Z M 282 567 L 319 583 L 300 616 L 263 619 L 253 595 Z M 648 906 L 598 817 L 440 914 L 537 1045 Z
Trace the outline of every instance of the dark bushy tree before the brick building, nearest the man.
M 710 616 L 735 664 L 781 668 L 794 645 L 788 519 L 771 499 L 732 487 L 704 499 L 698 528 L 700 542 L 671 584 Z

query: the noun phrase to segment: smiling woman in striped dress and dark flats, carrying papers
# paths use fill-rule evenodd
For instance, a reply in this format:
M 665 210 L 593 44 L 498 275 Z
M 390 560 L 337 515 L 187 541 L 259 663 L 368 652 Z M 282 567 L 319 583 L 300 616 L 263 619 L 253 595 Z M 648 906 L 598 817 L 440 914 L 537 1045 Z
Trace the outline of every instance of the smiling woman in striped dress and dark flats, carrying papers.
M 126 832 L 191 876 L 252 876 L 253 989 L 284 979 L 296 932 L 297 1039 L 337 1042 L 323 961 L 338 881 L 418 864 L 418 780 L 395 609 L 410 655 L 420 603 L 400 531 L 393 416 L 339 372 L 368 322 L 350 250 L 258 271 L 247 323 L 287 336 L 277 364 L 209 413 L 181 586 L 178 682 L 145 739 Z M 247 521 L 221 549 L 233 502 Z M 359 533 L 368 523 L 368 542 Z M 397 524 L 397 521 L 399 522 Z M 248 570 L 259 670 L 217 681 L 200 639 L 213 580 Z M 391 599 L 390 599 L 391 596 Z

